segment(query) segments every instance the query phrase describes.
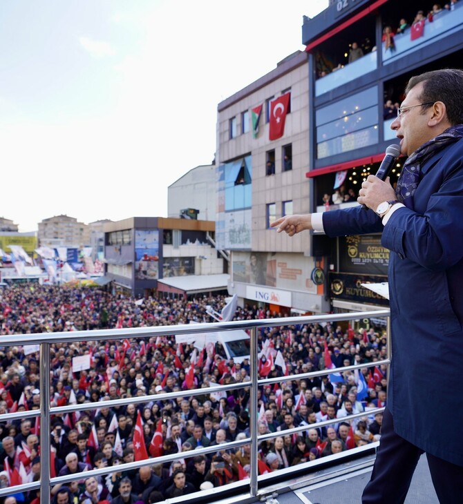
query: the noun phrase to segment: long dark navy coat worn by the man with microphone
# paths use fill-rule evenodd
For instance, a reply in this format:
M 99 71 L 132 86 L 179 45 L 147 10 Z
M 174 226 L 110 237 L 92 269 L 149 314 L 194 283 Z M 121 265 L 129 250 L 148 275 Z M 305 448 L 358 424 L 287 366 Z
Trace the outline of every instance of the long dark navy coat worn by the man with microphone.
M 395 432 L 463 465 L 463 139 L 422 167 L 410 206 L 386 226 L 360 206 L 323 213 L 323 226 L 329 236 L 382 232 L 390 250 Z

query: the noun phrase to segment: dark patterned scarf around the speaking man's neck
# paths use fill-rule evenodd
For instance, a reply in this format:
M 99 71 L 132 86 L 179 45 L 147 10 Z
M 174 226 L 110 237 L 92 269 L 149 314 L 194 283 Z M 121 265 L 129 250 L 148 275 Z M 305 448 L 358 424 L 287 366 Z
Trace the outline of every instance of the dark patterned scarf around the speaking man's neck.
M 463 137 L 463 124 L 457 124 L 446 129 L 444 133 L 437 135 L 437 137 L 429 140 L 408 157 L 402 168 L 399 180 L 397 180 L 397 188 L 395 194 L 397 200 L 404 203 L 411 208 L 412 196 L 417 190 L 419 183 L 419 173 L 422 166 L 430 159 L 437 151 L 442 148 L 457 142 Z

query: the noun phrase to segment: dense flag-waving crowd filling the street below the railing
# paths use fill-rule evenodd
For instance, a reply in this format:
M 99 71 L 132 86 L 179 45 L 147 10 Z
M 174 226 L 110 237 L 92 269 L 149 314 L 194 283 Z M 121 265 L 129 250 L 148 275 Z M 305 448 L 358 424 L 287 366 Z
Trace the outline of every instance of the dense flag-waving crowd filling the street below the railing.
M 1 335 L 148 327 L 209 322 L 207 306 L 220 311 L 224 296 L 185 300 L 153 295 L 135 300 L 102 289 L 40 287 L 20 284 L 0 292 Z M 256 306 L 238 307 L 235 320 L 279 317 Z M 368 409 L 386 403 L 386 369 L 370 367 L 359 374 L 344 371 L 323 378 L 292 380 L 291 375 L 386 356 L 381 331 L 296 324 L 262 329 L 261 377 L 281 377 L 279 385 L 258 390 L 258 432 L 279 433 L 258 446 L 259 472 L 275 471 L 345 449 L 371 443 L 381 435 L 381 414 Z M 38 409 L 38 353 L 30 347 L 0 347 L 0 414 Z M 227 359 L 219 343 L 203 349 L 176 343 L 172 336 L 79 341 L 50 347 L 52 406 L 99 403 L 98 409 L 55 414 L 50 420 L 51 475 L 82 472 L 82 479 L 52 488 L 53 502 L 155 503 L 249 476 L 250 445 L 218 445 L 249 436 L 249 389 L 192 395 L 193 388 L 249 380 L 249 360 Z M 90 367 L 73 370 L 73 358 L 89 356 Z M 180 398 L 139 405 L 104 407 L 106 400 L 185 391 Z M 365 411 L 360 419 L 349 414 Z M 339 419 L 329 427 L 321 420 Z M 298 434 L 287 429 L 307 426 Z M 0 487 L 36 481 L 40 472 L 37 417 L 0 423 Z M 187 457 L 198 447 L 216 446 L 207 455 Z M 177 454 L 173 463 L 156 456 Z M 153 465 L 106 477 L 85 478 L 88 469 L 153 458 Z M 39 490 L 17 493 L 3 501 L 38 503 Z

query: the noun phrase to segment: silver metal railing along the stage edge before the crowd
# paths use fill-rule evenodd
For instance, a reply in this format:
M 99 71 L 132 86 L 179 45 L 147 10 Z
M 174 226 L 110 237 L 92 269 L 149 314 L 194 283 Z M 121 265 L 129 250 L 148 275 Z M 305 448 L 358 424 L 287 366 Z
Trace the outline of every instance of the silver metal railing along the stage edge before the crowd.
M 363 367 L 372 367 L 378 365 L 387 365 L 390 362 L 390 312 L 386 309 L 375 310 L 375 311 L 364 311 L 360 313 L 337 313 L 330 315 L 319 315 L 319 316 L 302 316 L 302 317 L 286 317 L 277 319 L 263 319 L 263 320 L 245 320 L 245 321 L 233 321 L 233 322 L 211 322 L 202 324 L 182 324 L 178 326 L 158 326 L 158 327 L 137 327 L 128 329 L 103 329 L 95 331 L 72 331 L 72 332 L 60 332 L 60 333 L 41 333 L 41 334 L 21 334 L 13 336 L 2 336 L 1 346 L 7 347 L 9 345 L 40 345 L 40 410 L 32 411 L 20 411 L 14 414 L 2 414 L 0 415 L 0 421 L 12 420 L 17 418 L 31 418 L 33 416 L 40 416 L 40 449 L 41 449 L 41 474 L 40 481 L 33 483 L 26 483 L 23 485 L 17 485 L 15 487 L 8 487 L 0 490 L 0 497 L 10 495 L 12 493 L 19 493 L 23 491 L 36 490 L 41 487 L 41 504 L 50 504 L 50 485 L 56 485 L 58 483 L 66 483 L 75 480 L 81 480 L 84 477 L 90 476 L 102 476 L 106 474 L 111 474 L 113 472 L 120 472 L 121 470 L 138 469 L 146 465 L 152 465 L 155 460 L 156 463 L 164 463 L 175 461 L 179 458 L 179 454 L 171 454 L 167 456 L 158 457 L 156 459 L 148 458 L 145 461 L 137 461 L 133 463 L 125 463 L 117 465 L 115 467 L 106 467 L 104 469 L 92 469 L 84 473 L 77 473 L 68 476 L 57 476 L 55 478 L 50 478 L 50 415 L 57 413 L 69 413 L 72 411 L 88 411 L 91 409 L 97 409 L 102 407 L 102 403 L 84 403 L 82 405 L 68 405 L 63 407 L 50 407 L 50 345 L 54 343 L 66 343 L 75 341 L 96 341 L 96 340 L 121 340 L 124 338 L 149 338 L 153 336 L 172 336 L 173 333 L 176 335 L 182 334 L 192 334 L 192 333 L 207 333 L 212 331 L 227 331 L 234 329 L 248 329 L 251 332 L 250 339 L 250 380 L 248 382 L 240 382 L 235 384 L 220 386 L 220 390 L 234 390 L 243 387 L 250 387 L 251 394 L 249 398 L 249 429 L 250 438 L 246 438 L 240 441 L 233 441 L 231 443 L 223 443 L 220 445 L 221 449 L 227 449 L 229 447 L 240 447 L 242 445 L 251 444 L 251 464 L 250 464 L 250 474 L 249 474 L 249 496 L 258 496 L 258 467 L 257 467 L 257 454 L 258 454 L 258 442 L 261 440 L 272 439 L 277 436 L 294 434 L 298 432 L 303 432 L 310 428 L 324 427 L 325 425 L 330 425 L 332 423 L 339 423 L 344 420 L 360 418 L 365 416 L 365 412 L 359 414 L 352 414 L 343 418 L 336 418 L 334 420 L 323 420 L 322 422 L 312 424 L 310 426 L 304 425 L 301 427 L 294 427 L 293 429 L 285 429 L 277 433 L 263 434 L 258 436 L 257 422 L 258 422 L 258 411 L 257 411 L 257 392 L 258 387 L 267 384 L 273 384 L 278 382 L 285 382 L 287 380 L 298 380 L 301 378 L 312 378 L 325 376 L 332 374 L 336 371 L 352 371 L 355 369 L 362 369 Z M 325 369 L 323 371 L 312 371 L 305 374 L 297 374 L 291 376 L 283 376 L 280 378 L 265 378 L 263 380 L 258 380 L 258 338 L 257 330 L 264 327 L 284 327 L 292 325 L 310 324 L 310 323 L 320 323 L 320 322 L 332 322 L 341 320 L 355 320 L 358 318 L 388 318 L 387 324 L 387 358 L 385 360 L 380 360 L 376 362 L 368 362 L 362 365 L 352 365 L 347 367 L 341 367 L 336 369 Z M 45 339 L 44 339 L 45 338 Z M 178 398 L 185 396 L 194 396 L 197 394 L 207 394 L 213 391 L 217 391 L 218 387 L 208 387 L 204 389 L 191 389 L 188 391 L 177 391 L 170 392 L 166 394 L 155 394 L 143 397 L 135 398 L 125 398 L 125 399 L 115 399 L 104 401 L 104 407 L 120 406 L 127 404 L 139 404 L 148 403 L 150 400 L 164 400 L 169 398 Z M 384 408 L 377 408 L 369 411 L 368 414 L 375 414 L 379 411 L 383 411 Z M 217 451 L 217 445 L 214 447 L 200 448 L 192 450 L 191 452 L 182 452 L 182 458 L 189 458 L 191 456 L 196 456 L 198 454 L 209 454 Z M 350 451 L 352 452 L 352 450 Z M 48 489 L 44 492 L 45 489 Z M 215 491 L 217 489 L 214 489 Z

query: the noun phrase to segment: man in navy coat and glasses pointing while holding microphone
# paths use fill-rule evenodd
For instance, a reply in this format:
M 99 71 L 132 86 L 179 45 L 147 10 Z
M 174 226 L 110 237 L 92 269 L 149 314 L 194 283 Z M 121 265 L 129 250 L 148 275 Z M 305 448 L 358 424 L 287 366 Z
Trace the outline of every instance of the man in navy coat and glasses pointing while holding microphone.
M 370 175 L 358 199 L 368 209 L 292 215 L 272 224 L 290 236 L 305 229 L 330 237 L 382 233 L 390 250 L 389 394 L 363 504 L 403 503 L 424 452 L 440 502 L 460 502 L 463 493 L 463 393 L 455 394 L 445 429 L 438 428 L 442 411 L 423 400 L 442 394 L 442 383 L 460 380 L 463 361 L 462 96 L 462 70 L 412 77 L 390 126 L 408 156 L 397 188 Z

